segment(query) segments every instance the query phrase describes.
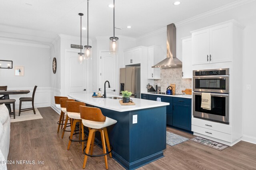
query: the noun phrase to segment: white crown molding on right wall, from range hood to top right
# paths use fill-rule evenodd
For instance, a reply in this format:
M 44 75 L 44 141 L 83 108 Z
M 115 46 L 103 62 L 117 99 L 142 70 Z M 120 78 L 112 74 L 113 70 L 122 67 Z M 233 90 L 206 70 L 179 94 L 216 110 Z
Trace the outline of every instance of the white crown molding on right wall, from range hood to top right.
M 232 9 L 232 8 L 236 8 L 236 7 L 238 7 L 238 6 L 241 6 L 241 5 L 244 5 L 244 4 L 253 2 L 253 1 L 255 1 L 255 0 L 237 0 L 237 1 L 232 2 L 232 3 L 230 3 L 230 4 L 221 6 L 221 7 L 219 7 L 219 8 L 215 8 L 214 10 L 210 10 L 210 11 L 208 11 L 208 12 L 205 12 L 205 13 L 199 14 L 199 15 L 197 15 L 197 16 L 188 18 L 188 19 L 186 19 L 186 20 L 177 22 L 177 23 L 175 23 L 175 25 L 176 25 L 176 27 L 180 27 L 180 26 L 182 26 L 182 25 L 191 23 L 191 22 L 193 22 L 193 21 L 197 21 L 197 20 L 200 20 L 200 19 L 202 19 L 202 18 L 206 18 L 206 17 L 212 16 L 212 15 L 214 15 L 214 14 L 218 14 L 218 13 L 220 13 L 220 12 L 224 12 L 224 11 L 226 11 L 226 10 L 230 10 L 230 9 Z

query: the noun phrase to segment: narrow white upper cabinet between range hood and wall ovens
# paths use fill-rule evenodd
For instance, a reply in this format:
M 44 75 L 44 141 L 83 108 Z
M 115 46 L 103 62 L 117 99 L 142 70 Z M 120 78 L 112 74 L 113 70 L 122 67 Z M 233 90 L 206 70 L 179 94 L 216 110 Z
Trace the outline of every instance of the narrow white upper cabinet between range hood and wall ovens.
M 182 38 L 182 78 L 192 78 L 192 38 Z

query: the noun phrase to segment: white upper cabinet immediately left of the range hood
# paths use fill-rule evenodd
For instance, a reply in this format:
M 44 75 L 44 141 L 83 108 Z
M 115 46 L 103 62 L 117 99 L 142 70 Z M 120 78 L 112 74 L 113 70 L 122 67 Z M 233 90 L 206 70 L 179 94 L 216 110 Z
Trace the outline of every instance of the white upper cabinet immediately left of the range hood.
M 160 68 L 152 68 L 161 61 L 161 47 L 148 47 L 148 79 L 160 79 Z

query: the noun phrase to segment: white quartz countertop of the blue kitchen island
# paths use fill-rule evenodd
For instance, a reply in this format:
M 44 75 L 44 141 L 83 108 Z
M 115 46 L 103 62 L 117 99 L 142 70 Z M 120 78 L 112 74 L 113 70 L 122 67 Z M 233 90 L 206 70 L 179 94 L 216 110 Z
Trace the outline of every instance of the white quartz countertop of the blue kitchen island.
M 73 98 L 80 102 L 84 102 L 86 104 L 90 104 L 90 105 L 93 105 L 96 107 L 102 107 L 102 108 L 110 109 L 110 110 L 114 110 L 114 111 L 120 111 L 120 112 L 169 105 L 169 103 L 166 103 L 166 102 L 157 102 L 157 101 L 152 101 L 152 100 L 130 98 L 130 99 L 132 99 L 132 102 L 135 103 L 135 105 L 122 106 L 119 103 L 119 100 L 121 100 L 121 99 L 93 98 L 92 94 L 70 94 L 68 96 L 70 98 Z M 109 95 L 107 97 L 111 97 L 111 95 Z M 122 98 L 122 96 L 116 96 L 116 97 Z

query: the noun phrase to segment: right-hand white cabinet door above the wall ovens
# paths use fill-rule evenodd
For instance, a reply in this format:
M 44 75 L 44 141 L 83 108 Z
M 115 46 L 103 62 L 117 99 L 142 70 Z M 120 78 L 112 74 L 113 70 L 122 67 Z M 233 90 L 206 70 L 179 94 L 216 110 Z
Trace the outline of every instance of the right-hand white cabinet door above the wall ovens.
M 210 28 L 210 63 L 232 61 L 232 23 Z

